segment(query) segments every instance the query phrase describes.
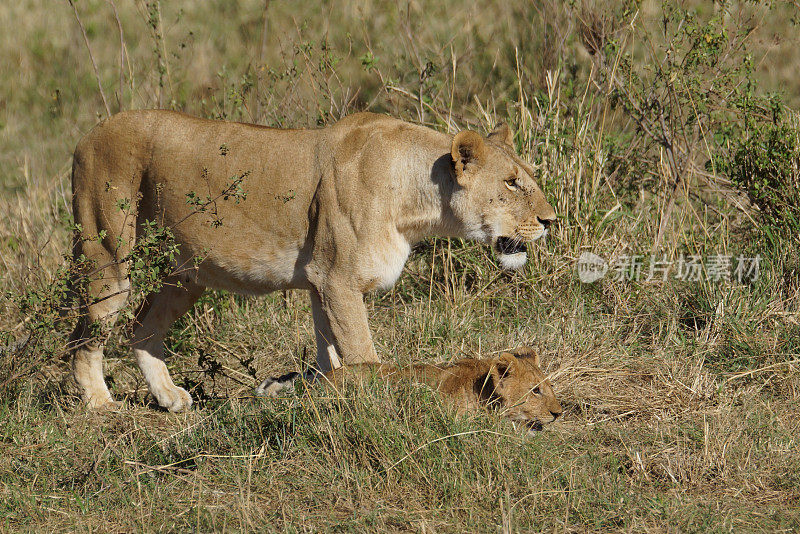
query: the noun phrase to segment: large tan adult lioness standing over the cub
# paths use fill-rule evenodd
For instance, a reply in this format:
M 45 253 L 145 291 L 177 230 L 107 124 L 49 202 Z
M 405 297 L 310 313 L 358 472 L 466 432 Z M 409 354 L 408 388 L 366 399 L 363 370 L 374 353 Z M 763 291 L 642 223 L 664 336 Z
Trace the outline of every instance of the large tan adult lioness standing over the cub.
M 363 294 L 397 280 L 413 243 L 474 239 L 518 268 L 525 242 L 555 219 L 507 126 L 451 136 L 372 113 L 279 130 L 123 112 L 78 143 L 72 188 L 74 253 L 95 266 L 72 336 L 90 407 L 112 401 L 103 328 L 92 325 L 108 327 L 123 307 L 132 247 L 154 224 L 171 230 L 180 252 L 138 313 L 131 345 L 150 392 L 178 411 L 192 399 L 173 383 L 162 342 L 206 287 L 307 289 L 319 369 L 377 362 Z

